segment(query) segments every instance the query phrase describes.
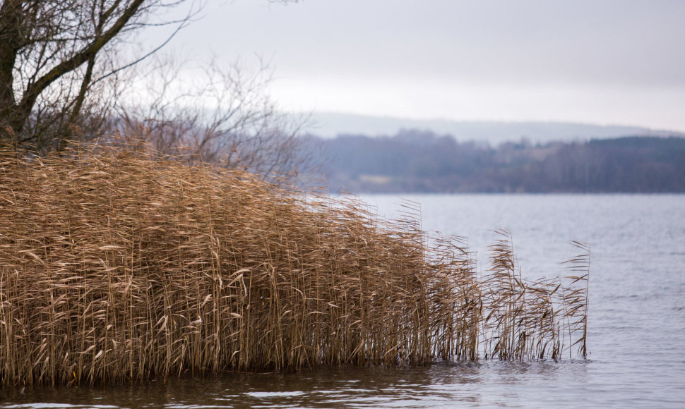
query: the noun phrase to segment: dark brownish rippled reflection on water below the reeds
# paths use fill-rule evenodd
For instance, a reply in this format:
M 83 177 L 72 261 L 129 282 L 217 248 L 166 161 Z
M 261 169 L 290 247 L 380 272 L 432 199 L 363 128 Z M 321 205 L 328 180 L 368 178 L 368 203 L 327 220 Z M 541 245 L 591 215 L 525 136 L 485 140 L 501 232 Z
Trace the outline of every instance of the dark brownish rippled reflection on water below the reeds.
M 583 387 L 588 361 L 441 363 L 427 367 L 335 367 L 293 374 L 221 374 L 141 386 L 8 391 L 4 408 L 425 408 L 461 403 L 516 405 L 539 390 L 539 403 L 559 378 Z M 554 386 L 553 386 L 554 385 Z M 532 389 L 532 390 L 531 390 Z M 563 393 L 562 393 L 563 395 Z M 519 402 L 523 403 L 523 402 Z

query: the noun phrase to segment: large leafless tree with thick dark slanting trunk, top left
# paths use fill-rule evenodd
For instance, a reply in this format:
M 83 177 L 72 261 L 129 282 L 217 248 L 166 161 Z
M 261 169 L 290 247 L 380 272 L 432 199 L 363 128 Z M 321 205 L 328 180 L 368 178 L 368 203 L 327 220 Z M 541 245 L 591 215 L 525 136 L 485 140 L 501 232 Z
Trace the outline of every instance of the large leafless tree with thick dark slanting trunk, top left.
M 181 4 L 184 18 L 153 18 Z M 100 128 L 111 108 L 102 104 L 107 80 L 155 51 L 119 61 L 117 46 L 150 24 L 179 30 L 200 7 L 199 0 L 2 1 L 0 126 L 39 152 L 60 149 L 71 124 Z

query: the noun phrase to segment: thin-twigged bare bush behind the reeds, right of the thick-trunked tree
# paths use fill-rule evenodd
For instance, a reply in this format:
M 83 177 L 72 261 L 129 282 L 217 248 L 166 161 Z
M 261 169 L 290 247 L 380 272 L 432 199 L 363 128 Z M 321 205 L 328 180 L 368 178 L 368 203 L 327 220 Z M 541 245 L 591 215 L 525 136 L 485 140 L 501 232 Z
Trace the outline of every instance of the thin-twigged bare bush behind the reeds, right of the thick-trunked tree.
M 314 170 L 306 118 L 282 113 L 268 96 L 272 71 L 218 59 L 193 65 L 172 54 L 138 67 L 114 100 L 114 126 L 157 152 L 237 167 L 266 178 Z

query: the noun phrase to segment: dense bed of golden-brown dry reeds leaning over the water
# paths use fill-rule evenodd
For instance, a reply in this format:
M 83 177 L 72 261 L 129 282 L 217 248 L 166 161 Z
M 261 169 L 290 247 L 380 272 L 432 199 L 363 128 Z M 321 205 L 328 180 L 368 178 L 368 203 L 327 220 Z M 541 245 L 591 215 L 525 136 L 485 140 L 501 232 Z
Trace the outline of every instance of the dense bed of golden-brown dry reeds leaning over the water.
M 500 230 L 477 273 L 420 209 L 116 143 L 0 152 L 0 384 L 586 355 L 590 248 L 525 281 Z

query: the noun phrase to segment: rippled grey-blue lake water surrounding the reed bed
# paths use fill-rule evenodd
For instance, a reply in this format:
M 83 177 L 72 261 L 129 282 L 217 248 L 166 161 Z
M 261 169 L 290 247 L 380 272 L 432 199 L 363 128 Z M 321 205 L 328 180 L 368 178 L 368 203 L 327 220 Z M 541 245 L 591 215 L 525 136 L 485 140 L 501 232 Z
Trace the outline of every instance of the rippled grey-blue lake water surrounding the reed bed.
M 362 197 L 393 217 L 398 197 Z M 592 245 L 587 360 L 222 374 L 166 384 L 0 391 L 0 408 L 685 407 L 685 195 L 413 195 L 424 230 L 466 236 L 487 268 L 508 228 L 523 275 Z

